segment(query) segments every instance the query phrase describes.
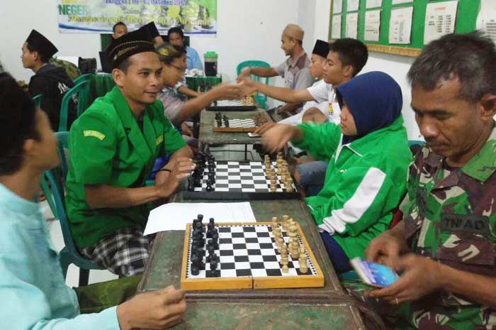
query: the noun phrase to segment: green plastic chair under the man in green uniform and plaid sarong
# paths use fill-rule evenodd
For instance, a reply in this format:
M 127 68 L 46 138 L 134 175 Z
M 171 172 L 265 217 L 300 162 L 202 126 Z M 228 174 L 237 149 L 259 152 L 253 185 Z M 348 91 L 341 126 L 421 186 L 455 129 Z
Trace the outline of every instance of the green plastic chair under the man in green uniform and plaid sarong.
M 67 160 L 65 159 L 65 148 L 67 148 L 67 132 L 59 132 L 57 134 L 58 150 L 60 155 L 61 164 L 65 164 L 67 169 Z M 58 171 L 57 171 L 58 170 Z M 66 170 L 67 172 L 67 170 Z M 60 251 L 60 266 L 64 277 L 67 275 L 67 268 L 71 263 L 79 267 L 79 286 L 88 285 L 89 270 L 103 269 L 93 263 L 91 260 L 84 258 L 79 251 L 77 251 L 72 238 L 69 223 L 67 221 L 67 214 L 64 203 L 64 184 L 62 178 L 65 177 L 63 165 L 60 169 L 47 170 L 41 177 L 41 187 L 47 199 L 50 209 L 54 216 L 60 221 L 62 228 L 62 235 L 64 236 L 65 246 Z M 63 175 L 61 175 L 63 173 Z

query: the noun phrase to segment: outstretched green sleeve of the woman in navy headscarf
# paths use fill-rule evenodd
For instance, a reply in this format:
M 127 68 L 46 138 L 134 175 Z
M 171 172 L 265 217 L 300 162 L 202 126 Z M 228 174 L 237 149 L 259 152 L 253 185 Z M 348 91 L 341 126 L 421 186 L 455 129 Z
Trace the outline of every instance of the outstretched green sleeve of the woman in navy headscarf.
M 291 143 L 300 149 L 307 150 L 317 160 L 330 160 L 341 139 L 341 128 L 335 123 L 302 123 L 298 125 L 303 131 L 303 138 Z

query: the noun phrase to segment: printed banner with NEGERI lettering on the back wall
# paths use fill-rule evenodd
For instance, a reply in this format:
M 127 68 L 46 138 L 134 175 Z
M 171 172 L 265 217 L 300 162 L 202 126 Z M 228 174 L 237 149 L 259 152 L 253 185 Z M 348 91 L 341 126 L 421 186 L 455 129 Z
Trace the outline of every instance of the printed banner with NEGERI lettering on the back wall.
M 57 0 L 61 33 L 112 33 L 118 21 L 134 31 L 155 22 L 159 33 L 179 26 L 186 35 L 216 35 L 217 0 Z

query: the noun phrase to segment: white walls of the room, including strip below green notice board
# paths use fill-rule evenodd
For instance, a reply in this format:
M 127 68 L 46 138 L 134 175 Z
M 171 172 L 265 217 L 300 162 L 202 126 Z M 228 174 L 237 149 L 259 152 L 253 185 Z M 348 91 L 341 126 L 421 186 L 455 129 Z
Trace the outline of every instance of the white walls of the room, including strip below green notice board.
M 32 28 L 52 40 L 57 55 L 96 57 L 100 50 L 97 34 L 59 33 L 56 0 L 8 1 L 0 11 L 0 61 L 16 79 L 28 82 L 33 72 L 22 67 L 21 46 Z M 288 23 L 298 23 L 305 30 L 303 46 L 307 52 L 317 38 L 327 40 L 329 0 L 218 0 L 218 35 L 191 37 L 191 46 L 203 54 L 215 50 L 219 55 L 218 70 L 224 81 L 236 77 L 236 65 L 243 60 L 264 60 L 278 65 L 285 57 L 280 48 L 281 32 Z M 21 16 L 22 13 L 22 16 Z M 412 57 L 370 53 L 363 72 L 381 70 L 400 84 L 403 92 L 403 116 L 410 139 L 419 138 L 410 109 L 410 86 L 406 73 Z M 282 79 L 271 79 L 281 85 Z M 269 106 L 274 102 L 269 103 Z

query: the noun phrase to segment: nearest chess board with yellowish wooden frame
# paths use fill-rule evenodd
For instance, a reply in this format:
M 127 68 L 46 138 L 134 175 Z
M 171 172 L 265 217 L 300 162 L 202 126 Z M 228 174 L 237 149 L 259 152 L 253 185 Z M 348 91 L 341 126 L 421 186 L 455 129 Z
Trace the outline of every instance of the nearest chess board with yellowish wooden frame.
M 298 260 L 288 255 L 288 273 L 281 270 L 281 253 L 279 253 L 272 225 L 270 222 L 253 223 L 219 223 L 220 276 L 212 275 L 205 263 L 205 270 L 198 275 L 191 274 L 192 226 L 188 224 L 184 236 L 184 255 L 181 269 L 181 288 L 184 290 L 227 290 L 227 289 L 268 289 L 284 287 L 323 287 L 324 275 L 320 270 L 315 255 L 308 241 L 298 228 L 298 242 L 305 247 L 307 255 L 307 273 L 300 272 Z M 281 227 L 281 226 L 279 226 Z M 205 226 L 203 227 L 205 232 Z M 281 231 L 283 240 L 288 243 L 287 231 Z M 205 249 L 205 261 L 208 252 Z

